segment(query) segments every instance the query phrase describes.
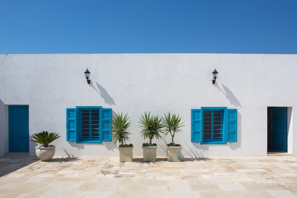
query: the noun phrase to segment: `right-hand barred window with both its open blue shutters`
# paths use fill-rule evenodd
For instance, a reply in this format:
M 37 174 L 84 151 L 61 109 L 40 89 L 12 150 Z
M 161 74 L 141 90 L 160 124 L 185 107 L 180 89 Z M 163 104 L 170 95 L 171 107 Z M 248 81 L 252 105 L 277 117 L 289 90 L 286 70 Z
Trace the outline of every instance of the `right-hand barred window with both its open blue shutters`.
M 202 107 L 192 109 L 192 142 L 226 144 L 237 142 L 237 109 Z

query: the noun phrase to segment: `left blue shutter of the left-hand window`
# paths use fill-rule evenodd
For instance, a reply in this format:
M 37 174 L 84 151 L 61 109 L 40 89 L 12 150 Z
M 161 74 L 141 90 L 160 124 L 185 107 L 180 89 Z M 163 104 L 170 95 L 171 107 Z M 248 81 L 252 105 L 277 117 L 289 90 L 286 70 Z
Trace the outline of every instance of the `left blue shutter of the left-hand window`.
M 67 141 L 77 141 L 76 108 L 66 109 Z

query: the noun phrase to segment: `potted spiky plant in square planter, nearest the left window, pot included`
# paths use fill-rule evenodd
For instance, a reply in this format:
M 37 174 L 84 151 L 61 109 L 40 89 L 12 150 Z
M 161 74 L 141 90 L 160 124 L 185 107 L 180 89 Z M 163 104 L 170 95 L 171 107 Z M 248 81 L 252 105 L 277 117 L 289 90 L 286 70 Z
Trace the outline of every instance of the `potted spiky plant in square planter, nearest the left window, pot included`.
M 123 116 L 123 112 L 116 113 L 116 116 L 112 116 L 112 138 L 114 144 L 119 141 L 119 161 L 120 162 L 133 162 L 133 144 L 126 144 L 126 141 L 130 140 L 128 132 L 131 126 L 131 120 L 129 120 L 128 114 Z

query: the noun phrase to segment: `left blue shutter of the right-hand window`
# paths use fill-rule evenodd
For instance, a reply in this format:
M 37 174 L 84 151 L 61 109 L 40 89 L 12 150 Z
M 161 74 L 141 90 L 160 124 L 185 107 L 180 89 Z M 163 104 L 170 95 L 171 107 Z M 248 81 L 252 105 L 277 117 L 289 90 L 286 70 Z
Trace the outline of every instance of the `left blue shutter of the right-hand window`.
M 191 142 L 202 142 L 202 109 L 192 109 Z

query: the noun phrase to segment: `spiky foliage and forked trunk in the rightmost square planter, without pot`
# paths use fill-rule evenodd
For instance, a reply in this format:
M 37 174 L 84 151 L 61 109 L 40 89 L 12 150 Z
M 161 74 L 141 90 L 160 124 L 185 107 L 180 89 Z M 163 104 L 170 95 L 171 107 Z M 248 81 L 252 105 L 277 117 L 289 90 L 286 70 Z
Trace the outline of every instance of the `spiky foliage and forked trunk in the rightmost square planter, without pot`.
M 184 122 L 180 123 L 182 120 L 182 117 L 179 117 L 179 114 L 176 115 L 174 114 L 170 114 L 170 112 L 167 112 L 167 114 L 164 113 L 164 117 L 162 117 L 162 124 L 165 130 L 165 136 L 167 134 L 171 134 L 172 137 L 172 144 L 171 145 L 175 145 L 173 138 L 175 133 L 182 131 L 181 127 L 185 126 L 182 125 Z

